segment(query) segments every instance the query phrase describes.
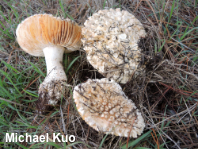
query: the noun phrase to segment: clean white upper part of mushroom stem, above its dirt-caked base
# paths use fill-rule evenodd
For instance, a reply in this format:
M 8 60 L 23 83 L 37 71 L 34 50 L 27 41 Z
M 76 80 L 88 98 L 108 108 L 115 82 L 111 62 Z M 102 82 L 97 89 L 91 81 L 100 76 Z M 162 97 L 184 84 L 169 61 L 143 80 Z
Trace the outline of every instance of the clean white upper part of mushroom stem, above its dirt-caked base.
M 43 49 L 47 66 L 45 83 L 51 80 L 67 80 L 62 66 L 64 50 L 65 49 L 60 46 L 46 47 Z

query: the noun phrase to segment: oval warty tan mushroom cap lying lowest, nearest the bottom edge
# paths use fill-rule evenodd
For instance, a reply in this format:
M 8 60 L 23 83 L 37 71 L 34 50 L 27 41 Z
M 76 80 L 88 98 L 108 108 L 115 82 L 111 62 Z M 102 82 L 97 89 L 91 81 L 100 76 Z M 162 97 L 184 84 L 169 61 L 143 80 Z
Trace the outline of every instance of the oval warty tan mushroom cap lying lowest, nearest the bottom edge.
M 73 98 L 83 120 L 97 131 L 133 138 L 143 132 L 141 113 L 114 80 L 89 79 L 74 88 Z

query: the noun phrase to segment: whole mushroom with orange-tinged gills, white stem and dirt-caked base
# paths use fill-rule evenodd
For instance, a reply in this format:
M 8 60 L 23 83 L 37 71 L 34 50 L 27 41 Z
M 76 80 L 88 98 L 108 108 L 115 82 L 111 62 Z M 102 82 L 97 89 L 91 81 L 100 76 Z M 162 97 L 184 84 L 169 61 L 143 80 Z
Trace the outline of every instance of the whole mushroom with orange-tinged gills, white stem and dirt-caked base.
M 81 46 L 81 27 L 69 19 L 62 20 L 49 14 L 36 14 L 26 18 L 16 29 L 20 47 L 33 56 L 44 56 L 47 76 L 39 87 L 36 102 L 39 112 L 56 105 L 65 96 L 66 74 L 63 70 L 63 53 L 78 50 Z

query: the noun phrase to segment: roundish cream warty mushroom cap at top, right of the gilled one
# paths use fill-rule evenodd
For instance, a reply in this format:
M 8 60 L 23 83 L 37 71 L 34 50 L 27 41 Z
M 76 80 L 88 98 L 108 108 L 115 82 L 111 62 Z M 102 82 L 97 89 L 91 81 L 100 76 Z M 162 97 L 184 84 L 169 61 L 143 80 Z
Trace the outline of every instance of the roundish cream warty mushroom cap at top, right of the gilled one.
M 101 74 L 126 83 L 144 70 L 138 42 L 146 32 L 134 15 L 119 8 L 100 10 L 84 25 L 82 42 L 87 60 Z

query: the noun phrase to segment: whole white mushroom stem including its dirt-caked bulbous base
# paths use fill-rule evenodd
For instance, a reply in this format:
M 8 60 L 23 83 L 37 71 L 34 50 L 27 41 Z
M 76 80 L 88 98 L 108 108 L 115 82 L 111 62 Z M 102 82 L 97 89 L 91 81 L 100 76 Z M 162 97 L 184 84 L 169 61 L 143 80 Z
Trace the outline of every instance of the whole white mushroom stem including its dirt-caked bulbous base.
M 36 102 L 39 113 L 48 109 L 48 106 L 55 106 L 67 94 L 65 86 L 67 77 L 62 65 L 64 50 L 60 46 L 51 46 L 43 49 L 47 76 L 39 86 L 39 99 Z

